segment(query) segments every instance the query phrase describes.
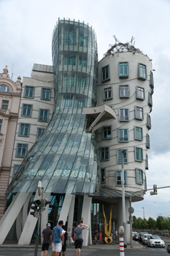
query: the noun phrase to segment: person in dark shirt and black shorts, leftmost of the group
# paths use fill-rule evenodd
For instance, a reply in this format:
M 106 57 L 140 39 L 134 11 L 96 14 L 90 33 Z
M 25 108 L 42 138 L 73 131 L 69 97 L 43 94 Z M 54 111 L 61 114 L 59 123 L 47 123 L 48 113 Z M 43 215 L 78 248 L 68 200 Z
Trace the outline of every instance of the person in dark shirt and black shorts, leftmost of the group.
M 43 243 L 42 243 L 41 256 L 44 256 L 44 252 L 45 252 L 45 256 L 47 256 L 48 249 L 52 241 L 52 230 L 50 229 L 50 226 L 51 226 L 50 223 L 47 223 L 47 228 L 45 228 L 42 231 Z

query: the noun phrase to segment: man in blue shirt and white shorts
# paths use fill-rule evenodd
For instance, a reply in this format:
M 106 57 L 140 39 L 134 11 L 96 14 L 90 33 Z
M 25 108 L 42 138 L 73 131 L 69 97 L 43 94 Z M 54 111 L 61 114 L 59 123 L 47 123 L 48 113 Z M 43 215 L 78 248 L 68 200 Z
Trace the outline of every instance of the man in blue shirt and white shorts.
M 61 237 L 63 221 L 60 220 L 58 225 L 53 228 L 53 253 L 52 256 L 59 256 L 62 249 Z

